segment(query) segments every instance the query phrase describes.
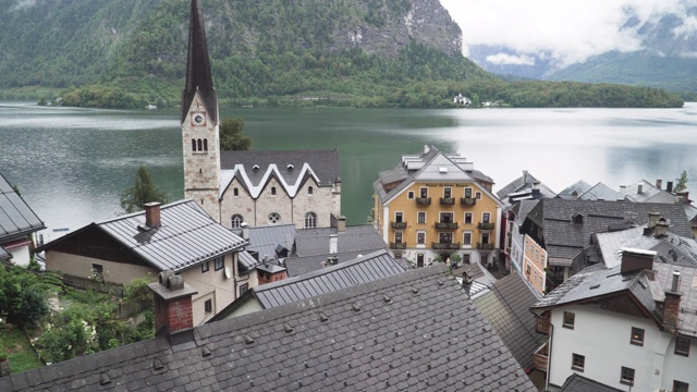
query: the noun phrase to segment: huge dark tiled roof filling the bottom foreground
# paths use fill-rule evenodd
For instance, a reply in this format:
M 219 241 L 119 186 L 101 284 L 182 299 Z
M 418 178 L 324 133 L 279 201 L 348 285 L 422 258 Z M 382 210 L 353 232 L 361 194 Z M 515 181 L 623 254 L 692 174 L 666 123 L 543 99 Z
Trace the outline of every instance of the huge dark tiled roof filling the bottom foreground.
M 536 391 L 439 267 L 0 378 L 2 391 Z

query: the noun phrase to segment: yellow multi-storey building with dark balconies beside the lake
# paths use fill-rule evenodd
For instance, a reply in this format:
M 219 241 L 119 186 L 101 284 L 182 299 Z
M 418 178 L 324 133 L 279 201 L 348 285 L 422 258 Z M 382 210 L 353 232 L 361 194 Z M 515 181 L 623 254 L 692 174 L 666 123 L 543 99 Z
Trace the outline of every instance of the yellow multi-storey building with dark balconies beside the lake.
M 439 259 L 486 266 L 499 248 L 503 207 L 492 185 L 472 162 L 424 146 L 374 182 L 374 224 L 392 255 L 412 266 Z

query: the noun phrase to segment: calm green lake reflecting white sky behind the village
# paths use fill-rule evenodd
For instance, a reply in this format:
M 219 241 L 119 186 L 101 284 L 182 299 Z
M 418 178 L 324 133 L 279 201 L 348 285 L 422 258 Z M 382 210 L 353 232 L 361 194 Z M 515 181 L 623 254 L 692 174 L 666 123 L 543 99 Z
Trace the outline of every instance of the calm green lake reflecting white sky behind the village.
M 138 166 L 183 197 L 179 109 L 101 110 L 0 102 L 0 173 L 50 229 L 122 212 Z M 528 170 L 555 192 L 585 180 L 619 188 L 697 175 L 697 103 L 682 109 L 222 109 L 254 149 L 339 148 L 342 210 L 365 223 L 377 173 L 425 144 L 456 152 L 494 191 Z M 692 179 L 694 180 L 694 179 Z M 688 183 L 692 187 L 694 181 Z

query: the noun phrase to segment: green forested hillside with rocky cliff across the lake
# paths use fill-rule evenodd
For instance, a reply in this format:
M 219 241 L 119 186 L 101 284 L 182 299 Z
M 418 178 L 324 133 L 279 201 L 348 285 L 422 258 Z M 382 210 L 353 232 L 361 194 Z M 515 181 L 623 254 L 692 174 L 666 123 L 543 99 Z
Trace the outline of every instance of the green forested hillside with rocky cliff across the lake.
M 4 97 L 41 86 L 59 89 L 66 105 L 179 102 L 189 0 L 0 3 Z M 682 105 L 648 88 L 503 82 L 462 57 L 461 30 L 438 0 L 203 0 L 201 8 L 221 105 L 448 107 L 457 94 L 519 107 Z

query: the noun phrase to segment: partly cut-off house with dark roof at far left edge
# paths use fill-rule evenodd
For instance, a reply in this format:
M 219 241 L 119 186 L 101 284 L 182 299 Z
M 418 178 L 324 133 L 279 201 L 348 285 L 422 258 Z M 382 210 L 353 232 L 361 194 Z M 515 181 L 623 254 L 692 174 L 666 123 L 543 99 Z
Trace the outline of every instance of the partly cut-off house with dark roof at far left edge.
M 30 238 L 44 229 L 44 222 L 0 173 L 0 261 L 28 266 Z

